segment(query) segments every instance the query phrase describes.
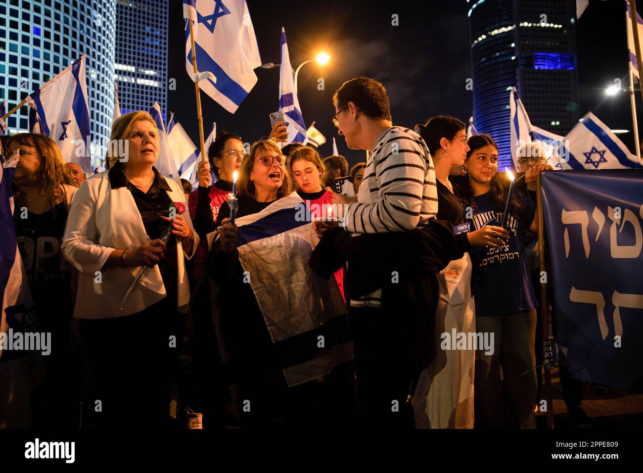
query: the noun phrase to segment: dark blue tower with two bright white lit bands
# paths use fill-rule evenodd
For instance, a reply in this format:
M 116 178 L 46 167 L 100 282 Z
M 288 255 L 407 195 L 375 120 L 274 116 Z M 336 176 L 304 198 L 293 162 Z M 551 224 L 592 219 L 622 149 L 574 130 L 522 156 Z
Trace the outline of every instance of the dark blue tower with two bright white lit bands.
M 122 113 L 159 102 L 167 116 L 168 0 L 116 0 L 114 79 Z

